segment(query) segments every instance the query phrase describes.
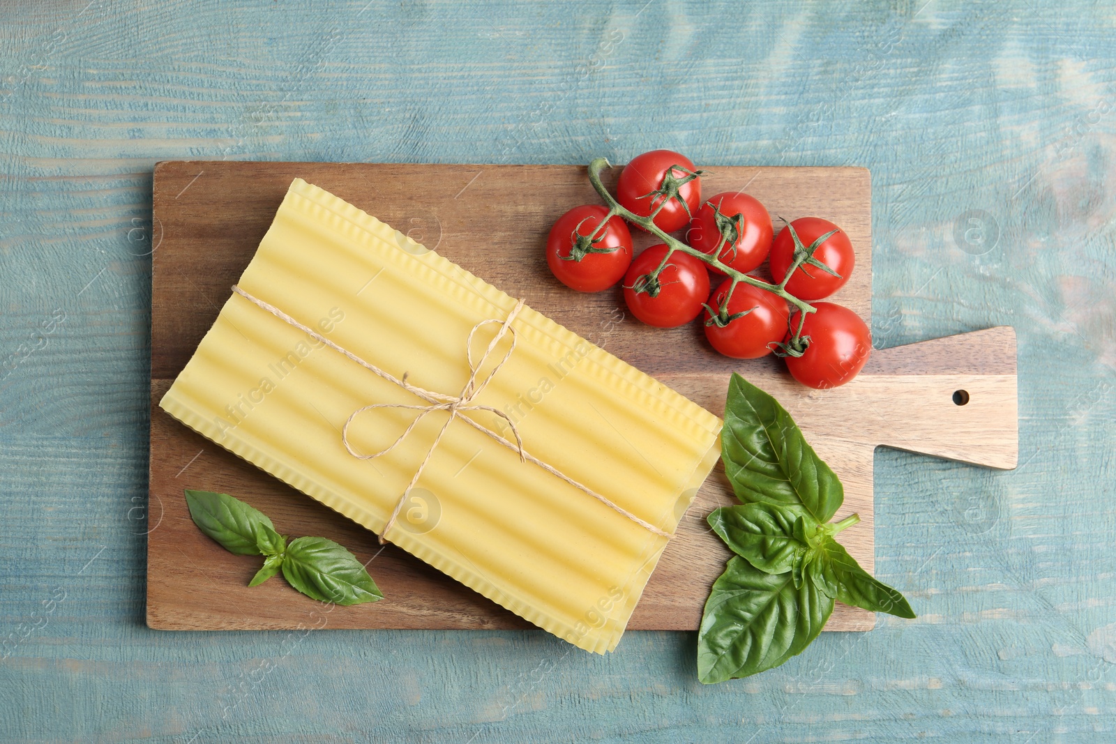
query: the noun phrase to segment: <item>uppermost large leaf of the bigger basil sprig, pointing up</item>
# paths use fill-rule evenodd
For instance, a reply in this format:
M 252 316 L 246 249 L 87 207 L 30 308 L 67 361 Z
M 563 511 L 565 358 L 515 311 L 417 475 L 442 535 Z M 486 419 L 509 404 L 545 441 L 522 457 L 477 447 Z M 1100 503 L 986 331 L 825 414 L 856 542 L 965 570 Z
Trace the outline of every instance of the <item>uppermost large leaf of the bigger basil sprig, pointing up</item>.
M 721 432 L 724 472 L 737 497 L 763 502 L 828 522 L 845 501 L 829 466 L 770 395 L 733 373 Z

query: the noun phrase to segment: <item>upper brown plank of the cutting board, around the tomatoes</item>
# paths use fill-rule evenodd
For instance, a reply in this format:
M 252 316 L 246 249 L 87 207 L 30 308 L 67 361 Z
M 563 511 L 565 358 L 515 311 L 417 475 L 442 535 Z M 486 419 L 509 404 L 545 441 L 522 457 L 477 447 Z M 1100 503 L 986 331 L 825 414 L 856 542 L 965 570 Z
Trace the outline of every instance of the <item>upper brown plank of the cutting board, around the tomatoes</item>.
M 834 296 L 872 319 L 872 183 L 865 168 L 710 166 L 709 196 L 747 184 L 772 214 L 825 213 L 848 233 L 856 270 Z M 615 192 L 619 167 L 604 174 Z M 554 221 L 599 203 L 584 166 L 410 165 L 368 163 L 166 162 L 155 168 L 152 278 L 152 378 L 173 378 L 217 319 L 229 287 L 256 252 L 295 177 L 325 189 L 625 361 L 650 374 L 670 369 L 767 369 L 713 352 L 701 330 L 656 329 L 634 319 L 623 340 L 607 336 L 618 289 L 575 293 L 547 269 L 542 247 Z M 776 220 L 776 224 L 780 224 Z M 634 235 L 636 251 L 653 241 Z M 766 265 L 761 267 L 766 270 Z M 679 354 L 674 354 L 679 350 Z

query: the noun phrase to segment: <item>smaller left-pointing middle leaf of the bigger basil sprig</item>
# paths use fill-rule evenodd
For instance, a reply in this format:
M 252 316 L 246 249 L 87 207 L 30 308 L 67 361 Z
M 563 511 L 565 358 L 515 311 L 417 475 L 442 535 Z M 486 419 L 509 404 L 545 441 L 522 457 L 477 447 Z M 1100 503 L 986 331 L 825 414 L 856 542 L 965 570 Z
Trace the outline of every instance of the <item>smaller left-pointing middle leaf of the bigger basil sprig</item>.
M 767 573 L 785 573 L 806 543 L 795 538 L 795 513 L 775 504 L 723 506 L 713 511 L 709 525 L 732 552 Z

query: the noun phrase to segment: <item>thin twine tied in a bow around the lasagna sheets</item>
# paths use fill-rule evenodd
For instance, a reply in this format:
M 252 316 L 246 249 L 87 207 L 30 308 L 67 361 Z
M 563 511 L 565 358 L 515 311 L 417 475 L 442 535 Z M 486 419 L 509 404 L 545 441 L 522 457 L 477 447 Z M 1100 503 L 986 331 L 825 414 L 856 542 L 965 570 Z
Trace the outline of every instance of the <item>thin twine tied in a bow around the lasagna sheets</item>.
M 660 530 L 654 524 L 651 524 L 650 522 L 646 522 L 646 521 L 639 519 L 638 516 L 636 516 L 632 512 L 627 511 L 623 506 L 619 506 L 619 505 L 615 504 L 608 497 L 603 496 L 602 494 L 597 493 L 593 489 L 590 489 L 590 487 L 588 487 L 588 486 L 586 486 L 586 485 L 584 485 L 581 483 L 578 483 L 577 481 L 575 481 L 571 477 L 569 477 L 565 473 L 556 470 L 555 467 L 548 465 L 547 463 L 545 463 L 541 460 L 539 460 L 539 458 L 535 457 L 533 455 L 531 455 L 529 452 L 527 452 L 527 450 L 523 448 L 523 439 L 522 439 L 522 437 L 520 437 L 519 429 L 516 428 L 516 423 L 513 421 L 511 421 L 510 416 L 508 416 L 506 413 L 503 413 L 502 410 L 500 410 L 499 408 L 496 408 L 493 406 L 487 406 L 487 405 L 481 405 L 481 404 L 473 403 L 473 399 L 478 395 L 480 395 L 481 390 L 483 390 L 488 386 L 488 384 L 492 380 L 492 378 L 496 376 L 496 374 L 498 371 L 500 371 L 500 368 L 503 367 L 503 365 L 508 361 L 508 359 L 511 358 L 512 351 L 516 350 L 516 329 L 512 328 L 511 322 L 516 319 L 516 316 L 519 315 L 519 311 L 523 308 L 523 303 L 525 303 L 523 300 L 519 300 L 516 303 L 516 307 L 512 308 L 511 312 L 508 313 L 508 317 L 504 318 L 502 321 L 501 320 L 497 320 L 494 318 L 490 318 L 488 320 L 482 320 L 479 323 L 477 323 L 475 326 L 473 326 L 472 330 L 469 331 L 469 338 L 465 341 L 465 358 L 466 358 L 466 360 L 469 363 L 469 373 L 470 373 L 469 374 L 469 379 L 465 381 L 465 385 L 461 389 L 461 393 L 459 395 L 446 395 L 444 393 L 436 393 L 434 390 L 427 390 L 427 389 L 425 389 L 423 387 L 419 387 L 417 385 L 412 385 L 411 383 L 407 381 L 407 376 L 405 374 L 403 375 L 403 378 L 400 379 L 400 378 L 395 377 L 394 375 L 392 375 L 391 373 L 384 371 L 383 369 L 381 369 L 376 365 L 371 364 L 368 361 L 365 361 L 364 359 L 362 359 L 357 355 L 353 354 L 348 349 L 345 349 L 345 348 L 338 346 L 337 344 L 335 344 L 334 341 L 330 341 L 328 338 L 326 338 L 325 336 L 323 336 L 318 331 L 314 330 L 309 326 L 304 326 L 302 323 L 300 323 L 299 321 L 295 320 L 289 315 L 287 315 L 286 312 L 283 312 L 279 308 L 275 307 L 273 305 L 264 302 L 263 300 L 261 300 L 261 299 L 259 299 L 257 297 L 253 297 L 252 294 L 249 294 L 248 292 L 246 292 L 244 290 L 242 290 L 239 286 L 234 284 L 232 287 L 232 291 L 237 292 L 238 294 L 240 294 L 241 297 L 243 297 L 248 301 L 252 302 L 257 307 L 259 307 L 259 308 L 261 308 L 263 310 L 267 310 L 268 312 L 270 312 L 275 317 L 279 318 L 280 320 L 287 322 L 288 325 L 294 326 L 295 328 L 298 328 L 299 330 L 301 330 L 306 335 L 310 336 L 315 340 L 320 341 L 321 344 L 325 344 L 326 346 L 328 346 L 329 348 L 334 349 L 335 351 L 344 355 L 348 359 L 352 359 L 353 361 L 355 361 L 356 364 L 360 365 L 362 367 L 364 367 L 368 371 L 374 373 L 375 375 L 377 375 L 377 376 L 379 376 L 379 377 L 388 380 L 389 383 L 394 383 L 395 385 L 398 385 L 403 389 L 407 390 L 408 393 L 411 393 L 411 394 L 415 395 L 416 397 L 422 398 L 423 400 L 426 402 L 426 405 L 421 405 L 421 404 L 405 404 L 405 403 L 376 403 L 376 404 L 363 406 L 363 407 L 357 408 L 356 410 L 354 410 L 349 415 L 348 419 L 346 419 L 345 426 L 341 428 L 341 443 L 345 445 L 345 448 L 348 451 L 348 453 L 350 455 L 353 455 L 354 457 L 357 457 L 358 460 L 372 460 L 374 457 L 379 457 L 381 455 L 385 455 L 388 452 L 391 452 L 392 450 L 394 450 L 401 442 L 403 442 L 403 439 L 405 439 L 407 437 L 407 435 L 411 434 L 411 432 L 414 431 L 414 428 L 419 425 L 419 423 L 427 414 L 431 414 L 431 413 L 433 413 L 435 410 L 445 410 L 445 412 L 448 412 L 450 414 L 450 417 L 446 418 L 445 423 L 442 425 L 442 428 L 439 431 L 437 436 L 434 437 L 433 443 L 430 445 L 430 450 L 426 452 L 426 456 L 423 458 L 422 463 L 420 463 L 419 467 L 415 470 L 415 473 L 414 473 L 414 475 L 411 479 L 411 483 L 407 484 L 407 487 L 403 491 L 403 495 L 400 496 L 398 501 L 395 502 L 395 509 L 392 511 L 391 516 L 388 516 L 387 521 L 384 523 L 384 528 L 379 531 L 379 543 L 381 544 L 387 542 L 387 537 L 386 537 L 387 535 L 387 531 L 391 530 L 392 526 L 395 524 L 395 520 L 396 520 L 396 518 L 398 518 L 400 511 L 403 509 L 403 504 L 406 503 L 406 500 L 407 500 L 407 496 L 411 493 L 411 490 L 414 489 L 415 484 L 419 482 L 419 479 L 422 475 L 423 468 L 426 467 L 426 463 L 429 463 L 430 458 L 434 455 L 434 450 L 437 447 L 439 442 L 442 441 L 442 435 L 445 434 L 446 429 L 450 427 L 450 424 L 453 423 L 454 418 L 460 418 L 464 423 L 469 424 L 470 426 L 472 426 L 477 431 L 481 432 L 482 434 L 484 434 L 484 435 L 487 435 L 487 436 L 496 439 L 497 442 L 499 442 L 503 446 L 508 447 L 509 450 L 513 450 L 513 451 L 518 452 L 519 453 L 519 458 L 520 458 L 521 462 L 530 462 L 530 463 L 532 463 L 532 464 L 541 467 L 542 470 L 545 470 L 546 472 L 550 473 L 551 475 L 555 475 L 559 480 L 565 481 L 566 483 L 569 483 L 570 485 L 573 485 L 574 487 L 578 489 L 579 491 L 583 491 L 583 492 L 589 494 L 590 496 L 593 496 L 594 499 L 596 499 L 600 503 L 605 504 L 609 509 L 612 509 L 612 510 L 614 510 L 614 511 L 623 514 L 624 516 L 626 516 L 627 519 L 632 520 L 633 522 L 635 522 L 639 526 L 644 528 L 648 532 L 657 534 L 657 535 L 660 535 L 662 538 L 667 538 L 667 539 L 671 538 L 671 533 L 665 532 L 663 530 Z M 481 355 L 481 358 L 478 359 L 477 361 L 473 361 L 473 356 L 472 356 L 472 341 L 473 341 L 473 337 L 477 335 L 478 330 L 480 330 L 483 326 L 487 326 L 489 323 L 500 323 L 500 329 L 497 331 L 497 334 L 492 338 L 492 340 L 489 341 L 488 348 L 484 350 L 484 354 Z M 480 371 L 481 371 L 482 367 L 484 366 L 484 363 L 488 360 L 489 356 L 491 356 L 492 352 L 496 350 L 496 347 L 499 345 L 500 340 L 504 336 L 507 336 L 508 334 L 511 334 L 511 344 L 509 345 L 507 352 L 504 352 L 503 358 L 500 359 L 500 361 L 498 361 L 492 367 L 492 370 L 485 377 L 483 377 L 480 380 L 478 380 L 478 376 L 480 375 Z M 405 408 L 405 409 L 410 409 L 410 410 L 417 410 L 419 415 L 415 416 L 414 421 L 411 422 L 411 425 L 407 426 L 407 428 L 403 432 L 403 434 L 401 434 L 395 439 L 395 442 L 393 442 L 392 444 L 387 445 L 386 447 L 384 447 L 379 452 L 360 453 L 360 452 L 357 452 L 356 450 L 354 450 L 353 445 L 349 443 L 349 441 L 348 441 L 348 428 L 349 428 L 349 425 L 353 423 L 354 418 L 356 418 L 358 415 L 360 415 L 362 413 L 364 413 L 366 410 L 372 410 L 373 408 Z M 503 418 L 508 423 L 508 426 L 511 429 L 512 435 L 514 435 L 514 437 L 516 437 L 514 443 L 512 443 L 509 439 L 506 439 L 504 437 L 500 436 L 499 434 L 497 434 L 496 432 L 493 432 L 489 427 L 487 427 L 483 424 L 481 424 L 481 423 L 477 422 L 475 419 L 473 419 L 471 416 L 469 416 L 465 413 L 465 412 L 470 412 L 470 410 L 488 410 L 489 413 L 496 414 L 497 416 L 500 416 L 501 418 Z

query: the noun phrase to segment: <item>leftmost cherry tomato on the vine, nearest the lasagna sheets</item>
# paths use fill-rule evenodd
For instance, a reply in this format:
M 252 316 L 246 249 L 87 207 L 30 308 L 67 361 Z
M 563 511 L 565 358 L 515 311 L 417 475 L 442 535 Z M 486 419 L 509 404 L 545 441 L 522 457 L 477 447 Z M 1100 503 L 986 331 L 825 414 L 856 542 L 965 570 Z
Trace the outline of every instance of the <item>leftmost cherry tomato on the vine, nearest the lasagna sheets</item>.
M 613 216 L 591 241 L 608 210 L 599 204 L 575 206 L 558 218 L 547 238 L 547 264 L 558 280 L 579 292 L 599 292 L 620 279 L 632 264 L 632 233 Z

